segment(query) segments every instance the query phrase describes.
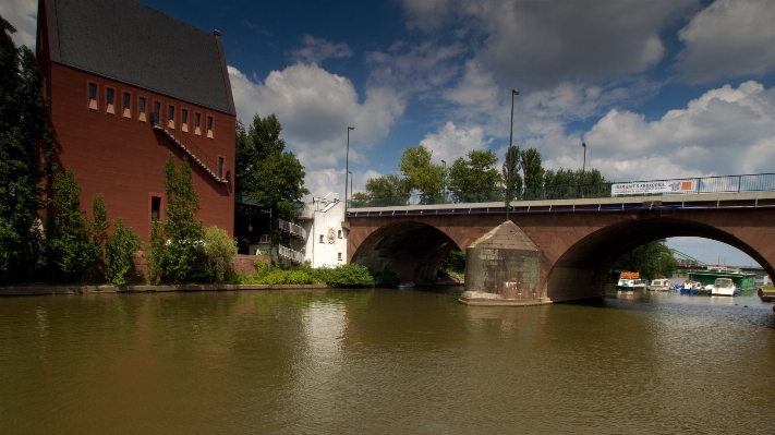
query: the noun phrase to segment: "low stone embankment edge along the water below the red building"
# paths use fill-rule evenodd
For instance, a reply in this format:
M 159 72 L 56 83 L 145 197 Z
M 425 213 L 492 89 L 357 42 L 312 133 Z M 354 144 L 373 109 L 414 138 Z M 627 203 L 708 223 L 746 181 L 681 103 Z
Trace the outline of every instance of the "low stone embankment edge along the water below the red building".
M 180 286 L 19 286 L 0 287 L 0 297 L 81 294 L 81 293 L 144 293 L 167 291 L 231 291 L 231 290 L 279 290 L 279 289 L 327 289 L 325 283 L 310 285 L 233 285 L 233 283 L 185 283 Z

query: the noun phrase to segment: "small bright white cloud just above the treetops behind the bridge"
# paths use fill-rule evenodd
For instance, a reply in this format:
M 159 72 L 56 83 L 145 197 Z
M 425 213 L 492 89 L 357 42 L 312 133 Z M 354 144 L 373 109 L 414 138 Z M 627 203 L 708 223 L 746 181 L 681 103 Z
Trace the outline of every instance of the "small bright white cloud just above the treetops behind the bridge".
M 447 166 L 451 166 L 458 157 L 463 157 L 471 150 L 484 149 L 491 142 L 492 138 L 484 138 L 484 129 L 481 126 L 459 129 L 449 121 L 438 129 L 438 133 L 426 134 L 420 145 L 433 152 L 433 161 L 436 164 L 445 160 Z

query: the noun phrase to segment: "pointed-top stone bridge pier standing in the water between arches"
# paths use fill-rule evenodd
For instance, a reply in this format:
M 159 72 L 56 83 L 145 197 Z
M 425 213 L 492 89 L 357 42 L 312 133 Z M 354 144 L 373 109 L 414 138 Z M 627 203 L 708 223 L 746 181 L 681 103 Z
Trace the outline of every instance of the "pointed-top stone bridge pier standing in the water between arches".
M 537 305 L 541 298 L 541 249 L 507 220 L 465 250 L 465 291 L 469 305 Z

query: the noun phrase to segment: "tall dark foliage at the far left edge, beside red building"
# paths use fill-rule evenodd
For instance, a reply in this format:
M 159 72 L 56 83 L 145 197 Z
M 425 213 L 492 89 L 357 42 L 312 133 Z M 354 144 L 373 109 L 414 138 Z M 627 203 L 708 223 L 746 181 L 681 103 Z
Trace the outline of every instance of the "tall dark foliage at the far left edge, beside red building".
M 48 102 L 35 53 L 0 16 L 0 282 L 32 277 L 44 251 L 38 210 L 53 174 Z

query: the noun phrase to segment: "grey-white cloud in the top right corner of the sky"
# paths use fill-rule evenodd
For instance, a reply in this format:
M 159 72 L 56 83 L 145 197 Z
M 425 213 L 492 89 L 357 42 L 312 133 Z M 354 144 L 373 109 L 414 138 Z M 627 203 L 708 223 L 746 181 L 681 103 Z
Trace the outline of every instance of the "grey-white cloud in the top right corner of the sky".
M 679 33 L 679 68 L 693 83 L 775 70 L 775 2 L 716 0 Z

